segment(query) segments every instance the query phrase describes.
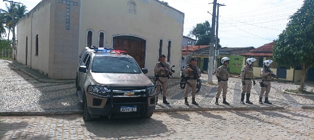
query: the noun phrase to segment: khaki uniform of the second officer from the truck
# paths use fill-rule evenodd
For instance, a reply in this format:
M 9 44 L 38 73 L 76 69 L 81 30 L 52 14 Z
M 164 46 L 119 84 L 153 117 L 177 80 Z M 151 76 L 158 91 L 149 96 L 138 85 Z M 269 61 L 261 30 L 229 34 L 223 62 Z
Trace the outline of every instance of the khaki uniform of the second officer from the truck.
M 190 68 L 190 66 L 186 65 L 185 69 L 183 71 L 183 73 L 186 74 L 187 77 L 190 78 L 190 79 L 188 79 L 186 81 L 186 84 L 185 84 L 184 98 L 187 98 L 187 94 L 188 94 L 188 91 L 189 91 L 190 88 L 192 88 L 192 97 L 195 98 L 196 85 L 197 85 L 197 80 L 196 80 L 197 79 L 197 75 L 194 75 L 194 72 L 193 71 L 189 71 L 188 68 Z M 194 70 L 198 70 L 198 68 L 196 66 L 194 66 Z M 198 73 L 198 71 L 196 73 Z

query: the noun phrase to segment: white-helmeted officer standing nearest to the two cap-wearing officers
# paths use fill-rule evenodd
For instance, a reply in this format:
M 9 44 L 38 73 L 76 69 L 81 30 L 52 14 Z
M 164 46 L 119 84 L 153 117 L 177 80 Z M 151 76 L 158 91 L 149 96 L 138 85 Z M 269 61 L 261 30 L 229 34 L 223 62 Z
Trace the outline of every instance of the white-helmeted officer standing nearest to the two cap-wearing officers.
M 218 104 L 218 99 L 222 90 L 222 97 L 223 97 L 223 104 L 230 105 L 226 101 L 226 94 L 227 94 L 227 88 L 228 88 L 228 77 L 229 77 L 229 69 L 227 68 L 229 64 L 230 58 L 229 57 L 224 57 L 221 59 L 221 65 L 220 67 L 217 68 L 216 71 L 216 77 L 218 79 L 218 87 L 217 87 L 217 94 L 216 94 L 216 105 Z

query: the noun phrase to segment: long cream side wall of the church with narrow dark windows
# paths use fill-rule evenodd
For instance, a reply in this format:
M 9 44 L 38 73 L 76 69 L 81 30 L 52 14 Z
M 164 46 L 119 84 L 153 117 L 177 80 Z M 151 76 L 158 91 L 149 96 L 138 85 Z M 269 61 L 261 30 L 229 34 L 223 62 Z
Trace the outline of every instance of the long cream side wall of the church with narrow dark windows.
M 49 42 L 51 1 L 43 0 L 17 24 L 18 53 L 17 61 L 39 70 L 44 74 L 49 71 Z M 35 55 L 36 35 L 38 34 L 38 55 Z

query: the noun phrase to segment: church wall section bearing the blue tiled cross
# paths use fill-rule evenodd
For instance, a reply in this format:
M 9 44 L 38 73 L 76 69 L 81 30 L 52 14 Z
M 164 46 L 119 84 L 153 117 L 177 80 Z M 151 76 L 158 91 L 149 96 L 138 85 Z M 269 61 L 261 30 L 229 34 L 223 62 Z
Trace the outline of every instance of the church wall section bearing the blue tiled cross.
M 78 34 L 80 0 L 70 5 L 69 29 L 66 29 L 67 4 L 52 0 L 50 72 L 54 79 L 75 79 L 78 68 Z

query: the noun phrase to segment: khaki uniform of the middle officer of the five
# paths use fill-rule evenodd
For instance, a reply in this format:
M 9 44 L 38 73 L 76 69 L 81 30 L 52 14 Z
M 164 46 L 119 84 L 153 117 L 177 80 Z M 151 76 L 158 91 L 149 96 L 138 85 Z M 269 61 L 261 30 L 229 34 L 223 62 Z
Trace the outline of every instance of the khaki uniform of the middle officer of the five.
M 229 71 L 227 66 L 222 65 L 217 68 L 216 77 L 220 77 L 220 82 L 218 82 L 216 99 L 219 98 L 221 89 L 222 89 L 222 97 L 226 98 L 227 88 L 228 88 L 228 77 Z

